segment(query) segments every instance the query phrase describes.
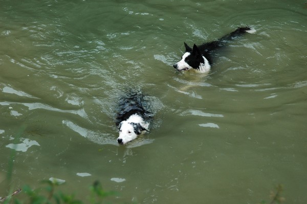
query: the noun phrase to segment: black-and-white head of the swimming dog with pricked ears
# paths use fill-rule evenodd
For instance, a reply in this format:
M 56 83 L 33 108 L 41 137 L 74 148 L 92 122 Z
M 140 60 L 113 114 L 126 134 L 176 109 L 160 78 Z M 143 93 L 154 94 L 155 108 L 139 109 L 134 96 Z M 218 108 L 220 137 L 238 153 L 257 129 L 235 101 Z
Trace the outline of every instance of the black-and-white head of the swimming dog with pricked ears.
M 190 48 L 186 43 L 184 43 L 184 46 L 186 51 L 182 56 L 182 59 L 174 64 L 173 67 L 178 71 L 191 69 L 200 70 L 202 64 L 205 63 L 201 51 L 196 46 L 196 44 L 194 44 L 193 49 Z

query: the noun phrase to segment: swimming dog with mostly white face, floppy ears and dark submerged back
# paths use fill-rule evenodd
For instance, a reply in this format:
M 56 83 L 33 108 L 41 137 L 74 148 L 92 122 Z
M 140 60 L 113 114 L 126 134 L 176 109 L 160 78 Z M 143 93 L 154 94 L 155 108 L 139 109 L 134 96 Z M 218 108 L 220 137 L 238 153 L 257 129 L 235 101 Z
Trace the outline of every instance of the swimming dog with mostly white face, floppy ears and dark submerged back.
M 136 139 L 140 134 L 149 132 L 151 114 L 145 110 L 141 93 L 129 93 L 119 102 L 116 125 L 119 129 L 117 142 L 121 145 Z

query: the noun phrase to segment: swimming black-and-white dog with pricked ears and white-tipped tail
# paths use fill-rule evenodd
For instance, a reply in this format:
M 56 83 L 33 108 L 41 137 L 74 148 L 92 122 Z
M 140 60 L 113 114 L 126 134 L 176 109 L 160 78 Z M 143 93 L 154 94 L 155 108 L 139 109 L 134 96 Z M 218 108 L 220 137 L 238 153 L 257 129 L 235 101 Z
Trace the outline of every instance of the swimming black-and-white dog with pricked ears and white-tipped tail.
M 221 48 L 227 41 L 242 35 L 243 33 L 254 33 L 256 30 L 249 27 L 240 27 L 232 33 L 225 35 L 224 37 L 214 40 L 212 42 L 203 43 L 201 46 L 194 44 L 193 48 L 190 48 L 185 42 L 185 53 L 182 59 L 173 65 L 178 71 L 192 70 L 194 69 L 199 73 L 208 73 L 212 65 L 212 59 L 210 57 L 212 51 Z

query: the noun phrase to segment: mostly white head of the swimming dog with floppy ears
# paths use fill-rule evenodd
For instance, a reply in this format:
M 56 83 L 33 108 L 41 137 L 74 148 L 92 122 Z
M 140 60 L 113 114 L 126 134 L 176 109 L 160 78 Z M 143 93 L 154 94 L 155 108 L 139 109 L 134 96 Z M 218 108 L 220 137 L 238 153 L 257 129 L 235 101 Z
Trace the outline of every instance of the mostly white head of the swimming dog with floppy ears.
M 140 123 L 133 123 L 122 121 L 119 124 L 119 137 L 117 142 L 121 145 L 126 144 L 127 142 L 133 141 L 138 137 L 142 131 L 148 131 Z

